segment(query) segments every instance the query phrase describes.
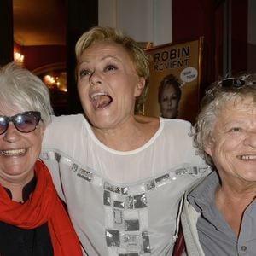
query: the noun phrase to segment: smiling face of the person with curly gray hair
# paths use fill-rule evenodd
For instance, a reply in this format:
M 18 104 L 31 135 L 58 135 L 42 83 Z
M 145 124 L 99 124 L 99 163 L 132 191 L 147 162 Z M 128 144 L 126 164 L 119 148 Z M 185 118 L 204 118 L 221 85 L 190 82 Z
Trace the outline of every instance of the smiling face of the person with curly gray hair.
M 256 106 L 251 98 L 225 105 L 206 152 L 223 183 L 256 182 Z

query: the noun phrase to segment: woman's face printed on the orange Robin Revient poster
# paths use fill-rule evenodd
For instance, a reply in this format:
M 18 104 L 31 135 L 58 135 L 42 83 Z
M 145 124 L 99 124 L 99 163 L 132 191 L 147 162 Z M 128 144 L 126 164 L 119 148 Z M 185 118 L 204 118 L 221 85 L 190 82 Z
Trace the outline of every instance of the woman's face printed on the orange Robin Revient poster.
M 172 84 L 166 84 L 160 96 L 160 112 L 163 118 L 176 119 L 179 98 Z

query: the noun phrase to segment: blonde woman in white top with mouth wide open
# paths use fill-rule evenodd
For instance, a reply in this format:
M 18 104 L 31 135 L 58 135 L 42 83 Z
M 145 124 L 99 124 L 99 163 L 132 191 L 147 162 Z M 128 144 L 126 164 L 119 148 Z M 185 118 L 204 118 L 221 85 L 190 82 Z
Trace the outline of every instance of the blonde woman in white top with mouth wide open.
M 190 124 L 135 114 L 148 55 L 130 37 L 94 27 L 76 44 L 82 114 L 55 117 L 49 166 L 84 255 L 172 255 L 178 201 L 206 173 Z

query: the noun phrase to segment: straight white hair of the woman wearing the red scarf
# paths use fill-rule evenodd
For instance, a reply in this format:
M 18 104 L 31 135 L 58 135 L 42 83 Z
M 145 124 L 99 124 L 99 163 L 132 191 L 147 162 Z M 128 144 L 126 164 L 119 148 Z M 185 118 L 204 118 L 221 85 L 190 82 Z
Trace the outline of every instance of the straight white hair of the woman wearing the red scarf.
M 20 112 L 39 111 L 44 125 L 50 123 L 53 114 L 46 85 L 15 62 L 0 69 L 0 106 Z

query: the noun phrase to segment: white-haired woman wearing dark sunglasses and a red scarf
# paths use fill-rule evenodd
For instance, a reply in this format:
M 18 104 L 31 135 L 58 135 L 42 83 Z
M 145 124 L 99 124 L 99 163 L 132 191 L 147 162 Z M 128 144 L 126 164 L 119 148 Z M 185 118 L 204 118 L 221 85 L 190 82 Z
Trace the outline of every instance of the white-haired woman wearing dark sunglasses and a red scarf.
M 38 155 L 52 108 L 44 83 L 15 63 L 0 69 L 0 255 L 82 255 Z

